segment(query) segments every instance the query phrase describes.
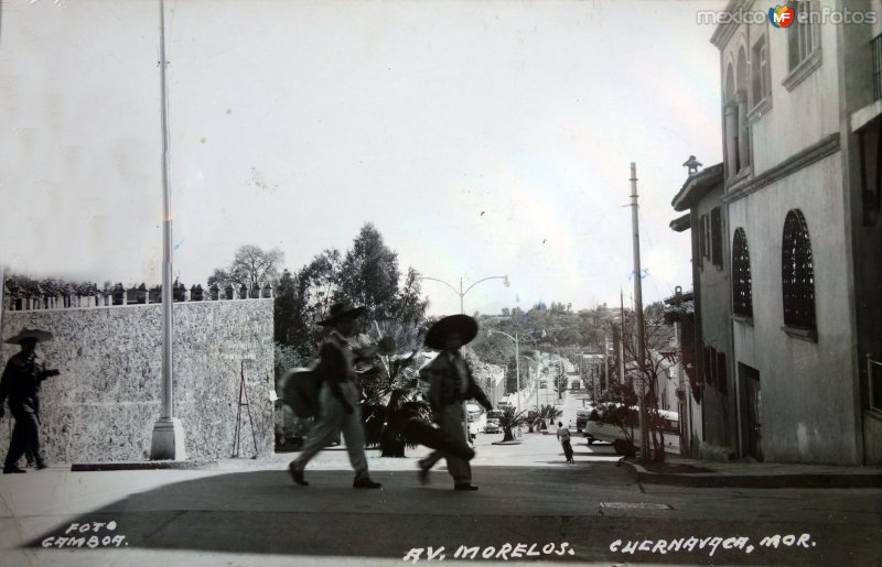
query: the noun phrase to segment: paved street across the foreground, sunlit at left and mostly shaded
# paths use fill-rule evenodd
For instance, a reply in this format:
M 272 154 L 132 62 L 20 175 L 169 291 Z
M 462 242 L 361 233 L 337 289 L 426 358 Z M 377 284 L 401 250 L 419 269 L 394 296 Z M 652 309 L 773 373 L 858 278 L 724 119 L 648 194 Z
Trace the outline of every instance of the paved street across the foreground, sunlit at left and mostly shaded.
M 284 472 L 291 455 L 217 470 L 3 476 L 0 564 L 400 564 L 409 553 L 426 560 L 429 547 L 450 563 L 465 546 L 477 554 L 469 561 L 869 565 L 882 550 L 879 489 L 641 486 L 609 446 L 579 439 L 567 466 L 553 435 L 498 438 L 478 436 L 472 493 L 454 492 L 443 468 L 419 486 L 421 449 L 370 451 L 378 491 L 349 487 L 343 450 L 313 461 L 308 488 Z M 761 545 L 775 535 L 777 548 Z

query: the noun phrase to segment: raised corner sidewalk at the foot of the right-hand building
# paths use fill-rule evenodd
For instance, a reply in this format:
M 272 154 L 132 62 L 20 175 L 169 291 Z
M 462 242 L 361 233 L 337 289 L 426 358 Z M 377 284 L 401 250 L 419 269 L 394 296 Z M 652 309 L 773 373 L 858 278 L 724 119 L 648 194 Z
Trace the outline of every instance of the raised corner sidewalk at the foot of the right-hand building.
M 882 467 L 707 461 L 668 455 L 660 467 L 622 461 L 635 480 L 696 488 L 879 488 Z

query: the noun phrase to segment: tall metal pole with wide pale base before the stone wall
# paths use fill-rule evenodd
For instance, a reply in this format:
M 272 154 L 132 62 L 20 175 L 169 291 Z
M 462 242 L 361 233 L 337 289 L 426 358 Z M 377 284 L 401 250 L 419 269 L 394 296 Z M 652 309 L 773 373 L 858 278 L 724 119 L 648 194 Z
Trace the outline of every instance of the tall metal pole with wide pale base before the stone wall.
M 174 381 L 172 345 L 174 319 L 172 317 L 172 207 L 171 188 L 169 186 L 169 89 L 165 81 L 165 2 L 159 2 L 159 37 L 160 37 L 160 100 L 162 121 L 162 404 L 160 418 L 153 425 L 151 459 L 182 460 L 184 451 L 184 432 L 180 421 L 174 417 Z

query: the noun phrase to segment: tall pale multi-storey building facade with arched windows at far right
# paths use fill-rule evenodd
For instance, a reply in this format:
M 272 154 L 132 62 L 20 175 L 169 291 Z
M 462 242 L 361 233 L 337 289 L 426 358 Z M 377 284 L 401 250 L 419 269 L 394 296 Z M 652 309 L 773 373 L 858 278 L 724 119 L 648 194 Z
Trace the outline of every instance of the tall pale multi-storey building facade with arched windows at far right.
M 735 424 L 728 441 L 742 456 L 879 464 L 882 413 L 868 369 L 882 360 L 882 6 L 789 6 L 787 26 L 735 18 L 711 39 L 720 51 L 720 222 L 729 254 L 728 286 L 712 293 L 731 317 L 725 379 L 735 419 L 709 418 L 718 410 L 707 400 L 704 419 Z M 727 10 L 775 7 L 732 0 Z M 706 307 L 709 293 L 701 290 Z

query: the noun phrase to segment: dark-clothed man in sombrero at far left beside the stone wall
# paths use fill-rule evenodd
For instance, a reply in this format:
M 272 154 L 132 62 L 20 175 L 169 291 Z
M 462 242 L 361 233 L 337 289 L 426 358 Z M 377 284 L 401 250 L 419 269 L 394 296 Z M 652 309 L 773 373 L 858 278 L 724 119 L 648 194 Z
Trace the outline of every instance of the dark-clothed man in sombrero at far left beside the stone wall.
M 23 329 L 6 340 L 19 345 L 21 351 L 13 355 L 0 378 L 0 417 L 3 402 L 9 400 L 9 411 L 15 417 L 15 427 L 9 441 L 9 451 L 3 473 L 24 472 L 18 467 L 25 452 L 33 455 L 37 469 L 46 468 L 40 450 L 40 386 L 43 380 L 58 375 L 57 370 L 46 370 L 36 355 L 36 344 L 52 339 L 52 334 L 39 329 Z

